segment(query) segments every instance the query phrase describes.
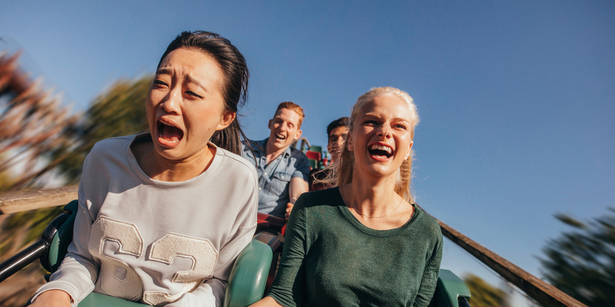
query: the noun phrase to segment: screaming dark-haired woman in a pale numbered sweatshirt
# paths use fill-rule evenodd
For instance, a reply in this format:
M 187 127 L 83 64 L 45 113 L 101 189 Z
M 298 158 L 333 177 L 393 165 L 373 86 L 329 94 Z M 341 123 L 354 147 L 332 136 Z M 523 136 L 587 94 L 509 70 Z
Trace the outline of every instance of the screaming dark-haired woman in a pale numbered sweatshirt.
M 146 99 L 149 133 L 98 142 L 84 162 L 73 243 L 31 306 L 94 291 L 154 306 L 220 306 L 256 228 L 256 170 L 236 153 L 248 69 L 231 42 L 183 32 Z

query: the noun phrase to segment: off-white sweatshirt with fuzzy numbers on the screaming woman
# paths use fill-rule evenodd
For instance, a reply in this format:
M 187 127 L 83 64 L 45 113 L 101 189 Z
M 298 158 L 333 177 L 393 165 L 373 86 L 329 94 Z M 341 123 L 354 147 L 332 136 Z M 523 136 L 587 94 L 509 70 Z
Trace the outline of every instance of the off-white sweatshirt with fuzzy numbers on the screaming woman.
M 97 142 L 84 162 L 73 243 L 50 289 L 74 306 L 103 293 L 154 306 L 221 306 L 235 258 L 256 228 L 254 166 L 217 148 L 204 173 L 156 181 L 130 144 L 149 134 Z

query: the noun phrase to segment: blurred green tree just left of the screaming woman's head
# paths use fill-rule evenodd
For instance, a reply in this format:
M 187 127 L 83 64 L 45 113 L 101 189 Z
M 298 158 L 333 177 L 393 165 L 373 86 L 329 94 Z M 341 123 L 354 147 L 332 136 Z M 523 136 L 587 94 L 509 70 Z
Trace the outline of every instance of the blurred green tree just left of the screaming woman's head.
M 85 156 L 95 142 L 148 130 L 145 101 L 151 81 L 152 77 L 146 76 L 116 82 L 93 101 L 84 120 L 68 131 L 71 141 L 55 150 L 51 160 L 59 161 L 58 170 L 70 183 L 79 181 Z

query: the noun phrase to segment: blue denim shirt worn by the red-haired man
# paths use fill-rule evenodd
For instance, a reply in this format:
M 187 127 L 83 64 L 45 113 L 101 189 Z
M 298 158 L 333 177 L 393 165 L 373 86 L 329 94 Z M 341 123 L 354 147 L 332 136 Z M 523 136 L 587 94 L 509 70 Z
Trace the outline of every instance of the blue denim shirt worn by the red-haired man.
M 258 212 L 284 217 L 286 204 L 290 202 L 288 186 L 292 177 L 308 181 L 309 161 L 301 150 L 288 147 L 277 158 L 267 164 L 265 147 L 266 138 L 262 141 L 251 141 L 250 148 L 242 143 L 242 157 L 256 166 L 258 175 Z M 258 163 L 256 163 L 258 161 Z

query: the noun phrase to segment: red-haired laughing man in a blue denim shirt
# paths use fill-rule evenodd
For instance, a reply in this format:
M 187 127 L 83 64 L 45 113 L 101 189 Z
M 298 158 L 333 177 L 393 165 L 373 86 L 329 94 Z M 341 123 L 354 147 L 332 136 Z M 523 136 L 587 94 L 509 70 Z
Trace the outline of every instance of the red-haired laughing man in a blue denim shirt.
M 280 103 L 269 120 L 269 138 L 243 144 L 242 156 L 256 166 L 258 212 L 288 219 L 293 204 L 308 192 L 309 161 L 290 145 L 301 138 L 303 109 L 290 101 Z

